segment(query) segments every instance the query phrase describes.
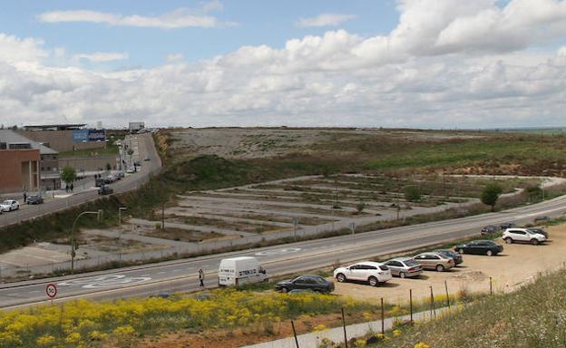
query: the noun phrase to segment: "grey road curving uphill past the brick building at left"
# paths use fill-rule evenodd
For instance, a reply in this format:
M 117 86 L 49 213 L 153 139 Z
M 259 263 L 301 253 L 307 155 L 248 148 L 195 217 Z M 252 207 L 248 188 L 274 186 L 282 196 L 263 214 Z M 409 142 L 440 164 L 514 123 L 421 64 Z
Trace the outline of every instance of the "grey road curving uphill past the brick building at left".
M 136 189 L 146 182 L 151 174 L 157 173 L 161 169 L 161 159 L 157 150 L 155 150 L 151 135 L 140 134 L 132 138 L 132 146 L 138 150 L 139 157 L 144 159 L 147 156 L 151 160 L 142 161 L 142 168 L 138 173 L 129 175 L 110 185 L 116 193 Z M 4 227 L 31 218 L 38 218 L 98 198 L 98 190 L 93 189 L 75 193 L 68 198 L 46 199 L 44 204 L 37 206 L 22 205 L 19 210 L 0 215 L 0 226 Z

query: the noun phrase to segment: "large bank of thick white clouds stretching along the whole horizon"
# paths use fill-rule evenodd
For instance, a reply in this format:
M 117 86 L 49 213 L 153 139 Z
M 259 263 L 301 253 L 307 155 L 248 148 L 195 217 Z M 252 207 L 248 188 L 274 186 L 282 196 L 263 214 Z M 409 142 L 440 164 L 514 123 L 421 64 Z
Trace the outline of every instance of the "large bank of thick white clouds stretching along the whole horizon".
M 566 38 L 565 2 L 531 3 L 405 0 L 387 35 L 337 30 L 110 73 L 49 66 L 56 53 L 41 40 L 0 35 L 0 115 L 5 124 L 64 114 L 110 125 L 564 125 L 566 51 L 554 43 Z M 473 30 L 486 23 L 493 37 L 480 40 Z

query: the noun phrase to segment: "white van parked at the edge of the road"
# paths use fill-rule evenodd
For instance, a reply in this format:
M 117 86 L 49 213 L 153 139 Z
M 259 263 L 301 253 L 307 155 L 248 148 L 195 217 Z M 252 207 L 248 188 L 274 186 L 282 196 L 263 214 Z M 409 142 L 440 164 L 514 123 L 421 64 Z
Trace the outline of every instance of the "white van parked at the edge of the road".
M 220 261 L 219 286 L 238 286 L 266 281 L 268 281 L 268 273 L 256 257 L 239 256 Z

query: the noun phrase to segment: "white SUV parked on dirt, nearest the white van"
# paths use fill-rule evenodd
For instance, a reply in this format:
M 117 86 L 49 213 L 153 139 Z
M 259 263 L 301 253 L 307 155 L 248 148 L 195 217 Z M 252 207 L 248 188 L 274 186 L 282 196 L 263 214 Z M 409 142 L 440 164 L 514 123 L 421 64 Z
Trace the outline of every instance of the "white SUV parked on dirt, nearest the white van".
M 338 267 L 334 270 L 334 277 L 339 283 L 357 280 L 377 286 L 391 279 L 391 271 L 379 262 L 364 261 L 347 267 Z

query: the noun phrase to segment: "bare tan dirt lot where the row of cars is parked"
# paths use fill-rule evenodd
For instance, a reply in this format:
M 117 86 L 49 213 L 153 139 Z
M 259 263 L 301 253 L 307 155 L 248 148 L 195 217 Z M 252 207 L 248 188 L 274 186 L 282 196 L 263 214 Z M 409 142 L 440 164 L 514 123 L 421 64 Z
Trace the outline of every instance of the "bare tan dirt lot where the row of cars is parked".
M 549 242 L 545 245 L 508 245 L 503 240 L 503 254 L 498 256 L 464 255 L 464 263 L 448 272 L 424 271 L 416 278 L 394 277 L 385 285 L 372 287 L 364 284 L 336 283 L 337 295 L 349 295 L 366 301 L 380 301 L 381 297 L 391 304 L 408 302 L 409 289 L 413 298 L 423 300 L 430 297 L 430 286 L 434 295 L 444 295 L 460 290 L 489 292 L 489 277 L 493 278 L 493 291 L 509 292 L 539 275 L 564 266 L 566 262 L 566 225 L 545 228 Z

